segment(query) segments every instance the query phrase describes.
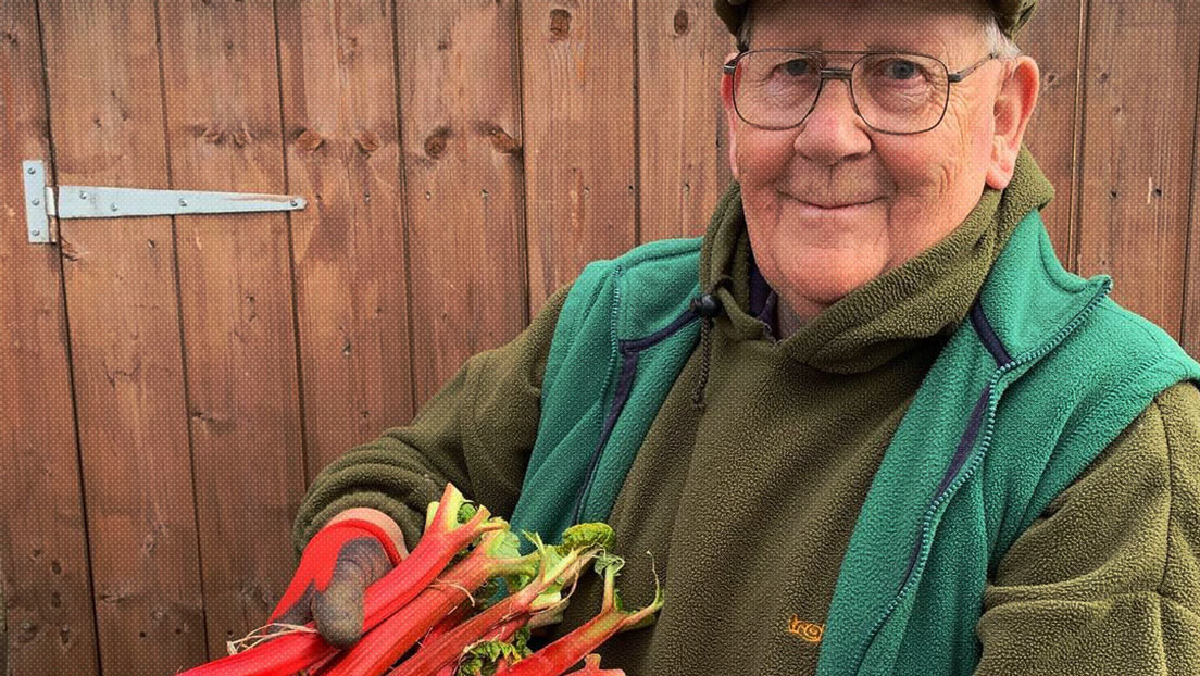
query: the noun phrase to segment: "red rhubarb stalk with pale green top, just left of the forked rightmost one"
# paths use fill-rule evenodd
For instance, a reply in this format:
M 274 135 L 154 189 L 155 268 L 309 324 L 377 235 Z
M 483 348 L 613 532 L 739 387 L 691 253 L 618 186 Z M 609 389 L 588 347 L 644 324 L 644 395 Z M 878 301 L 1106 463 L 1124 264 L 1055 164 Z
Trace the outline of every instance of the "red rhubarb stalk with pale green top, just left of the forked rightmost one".
M 487 640 L 487 634 L 506 622 L 520 620 L 521 624 L 534 612 L 557 606 L 562 600 L 559 588 L 571 584 L 580 572 L 590 563 L 594 551 L 571 551 L 553 564 L 542 560 L 538 576 L 520 591 L 514 592 L 484 612 L 467 620 L 437 641 L 406 659 L 400 666 L 388 672 L 388 676 L 427 676 L 446 664 L 454 663 L 470 646 Z M 556 556 L 557 558 L 557 556 Z M 556 587 L 551 591 L 551 587 Z M 551 593 L 547 593 L 551 591 Z M 545 596 L 544 596 L 545 594 Z M 518 624 L 520 627 L 520 624 Z M 398 657 L 398 656 L 397 656 Z M 359 672 L 348 672 L 358 676 Z M 376 676 L 374 672 L 362 672 L 364 676 Z

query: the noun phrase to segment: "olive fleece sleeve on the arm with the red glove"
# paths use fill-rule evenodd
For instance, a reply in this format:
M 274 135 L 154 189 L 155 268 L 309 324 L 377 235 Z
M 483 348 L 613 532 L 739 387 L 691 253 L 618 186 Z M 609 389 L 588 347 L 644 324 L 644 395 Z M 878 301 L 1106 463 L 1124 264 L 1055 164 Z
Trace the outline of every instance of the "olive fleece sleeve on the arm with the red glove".
M 337 513 L 371 507 L 391 516 L 409 548 L 425 508 L 448 481 L 508 518 L 538 435 L 541 379 L 570 286 L 552 295 L 508 345 L 462 366 L 412 424 L 348 450 L 313 480 L 293 527 L 296 552 Z

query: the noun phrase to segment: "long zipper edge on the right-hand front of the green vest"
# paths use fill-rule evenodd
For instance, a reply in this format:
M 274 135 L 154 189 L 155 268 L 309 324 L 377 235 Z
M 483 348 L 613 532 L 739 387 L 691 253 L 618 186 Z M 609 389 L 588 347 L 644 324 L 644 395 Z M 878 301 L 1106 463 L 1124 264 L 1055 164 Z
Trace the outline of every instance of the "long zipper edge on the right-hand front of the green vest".
M 937 514 L 937 510 L 941 508 L 942 503 L 948 501 L 950 496 L 958 492 L 959 487 L 961 487 L 962 484 L 965 484 L 974 474 L 976 469 L 983 462 L 983 459 L 988 453 L 988 448 L 991 445 L 991 436 L 995 432 L 995 425 L 996 425 L 996 406 L 1000 403 L 1000 395 L 1001 395 L 1001 390 L 997 387 L 1000 379 L 1004 375 L 1031 361 L 1037 361 L 1038 359 L 1042 359 L 1043 357 L 1046 355 L 1046 353 L 1057 347 L 1063 340 L 1066 340 L 1068 335 L 1070 335 L 1076 328 L 1079 328 L 1081 323 L 1084 323 L 1084 321 L 1096 310 L 1096 307 L 1100 304 L 1100 301 L 1104 300 L 1104 298 L 1109 294 L 1109 291 L 1111 288 L 1112 288 L 1112 280 L 1104 279 L 1100 285 L 1100 291 L 1097 292 L 1096 295 L 1093 295 L 1087 301 L 1087 305 L 1085 305 L 1078 313 L 1075 313 L 1075 316 L 1072 318 L 1070 322 L 1067 323 L 1067 325 L 1064 325 L 1062 329 L 1058 330 L 1058 333 L 1051 336 L 1049 341 L 1043 343 L 1040 347 L 1037 347 L 1018 357 L 1016 359 L 1013 359 L 1008 364 L 1000 366 L 998 369 L 996 369 L 995 372 L 992 372 L 991 377 L 988 378 L 988 385 L 985 387 L 984 390 L 985 393 L 988 393 L 988 415 L 986 415 L 986 423 L 984 425 L 984 433 L 978 444 L 979 448 L 971 456 L 970 462 L 965 465 L 961 472 L 950 481 L 948 486 L 946 486 L 937 495 L 937 497 L 934 498 L 932 502 L 930 502 L 929 507 L 925 509 L 924 518 L 922 519 L 920 536 L 917 538 L 917 544 L 913 548 L 913 552 L 914 554 L 919 552 L 919 556 L 917 556 L 914 566 L 910 564 L 908 572 L 905 574 L 905 580 L 900 585 L 900 590 L 896 592 L 895 597 L 892 599 L 892 603 L 888 604 L 888 608 L 883 611 L 882 615 L 880 615 L 878 620 L 875 621 L 875 624 L 871 627 L 871 630 L 868 632 L 866 638 L 864 639 L 863 645 L 858 651 L 858 659 L 857 659 L 858 670 L 862 669 L 863 662 L 866 659 L 866 653 L 870 651 L 871 645 L 875 642 L 875 638 L 878 635 L 880 629 L 882 629 L 883 624 L 887 623 L 887 621 L 892 617 L 892 614 L 895 611 L 896 606 L 899 606 L 900 602 L 902 602 L 904 598 L 908 594 L 908 592 L 912 590 L 913 582 L 917 580 L 919 574 L 925 568 L 925 562 L 929 558 L 929 551 L 932 548 L 932 542 L 930 540 L 930 531 L 932 528 L 934 515 Z

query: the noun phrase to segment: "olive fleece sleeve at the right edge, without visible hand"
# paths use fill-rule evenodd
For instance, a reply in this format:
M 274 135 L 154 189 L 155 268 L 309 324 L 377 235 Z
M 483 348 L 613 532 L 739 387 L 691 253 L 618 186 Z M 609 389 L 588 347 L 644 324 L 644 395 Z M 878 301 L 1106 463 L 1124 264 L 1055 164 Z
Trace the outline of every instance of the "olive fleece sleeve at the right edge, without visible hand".
M 976 676 L 1200 674 L 1200 391 L 1160 393 L 1004 555 Z

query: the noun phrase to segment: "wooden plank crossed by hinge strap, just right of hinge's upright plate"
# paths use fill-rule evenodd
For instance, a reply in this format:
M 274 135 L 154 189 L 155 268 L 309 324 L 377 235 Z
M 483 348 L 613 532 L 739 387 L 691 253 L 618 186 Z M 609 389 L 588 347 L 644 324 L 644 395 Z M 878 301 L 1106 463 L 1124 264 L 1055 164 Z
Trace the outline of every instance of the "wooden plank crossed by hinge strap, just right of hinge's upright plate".
M 154 4 L 41 2 L 58 181 L 167 186 Z M 169 219 L 62 221 L 100 653 L 204 658 Z

